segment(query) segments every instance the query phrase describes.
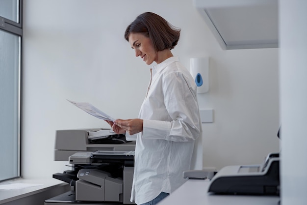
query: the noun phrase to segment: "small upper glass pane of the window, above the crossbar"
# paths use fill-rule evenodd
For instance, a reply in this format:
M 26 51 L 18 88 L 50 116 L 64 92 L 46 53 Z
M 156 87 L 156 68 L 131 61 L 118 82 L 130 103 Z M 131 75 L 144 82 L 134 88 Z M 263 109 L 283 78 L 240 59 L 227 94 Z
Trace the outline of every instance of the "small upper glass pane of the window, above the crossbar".
M 0 0 L 0 16 L 19 23 L 18 0 Z

